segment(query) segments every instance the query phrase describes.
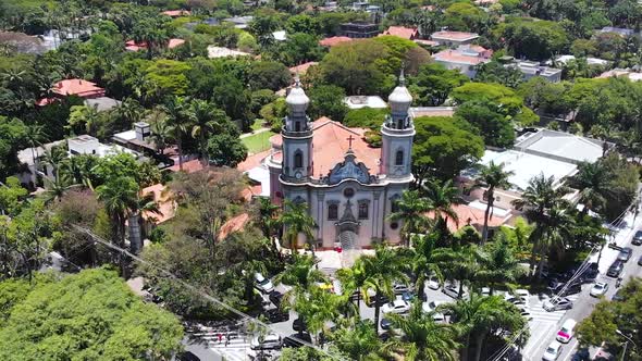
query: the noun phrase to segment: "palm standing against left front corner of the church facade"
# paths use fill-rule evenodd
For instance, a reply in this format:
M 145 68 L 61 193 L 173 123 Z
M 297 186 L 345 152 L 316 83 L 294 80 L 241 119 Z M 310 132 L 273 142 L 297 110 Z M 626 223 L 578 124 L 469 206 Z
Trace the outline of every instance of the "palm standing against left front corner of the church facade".
M 304 202 L 285 200 L 285 210 L 281 214 L 281 223 L 285 227 L 284 238 L 289 241 L 289 249 L 293 257 L 297 256 L 297 246 L 299 235 L 304 235 L 306 242 L 310 242 L 314 237 L 312 229 L 317 226 L 314 219 L 308 213 L 308 206 Z M 314 254 L 314 247 L 309 245 Z

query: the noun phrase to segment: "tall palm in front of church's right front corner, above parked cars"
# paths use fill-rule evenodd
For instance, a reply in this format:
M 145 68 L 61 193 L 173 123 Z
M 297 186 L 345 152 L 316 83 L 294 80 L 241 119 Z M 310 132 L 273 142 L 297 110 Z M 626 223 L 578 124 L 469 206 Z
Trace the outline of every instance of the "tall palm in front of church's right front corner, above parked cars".
M 366 279 L 363 281 L 363 288 L 369 288 L 374 291 L 374 329 L 379 332 L 379 319 L 381 304 L 379 297 L 384 295 L 388 298 L 394 298 L 393 283 L 402 282 L 407 283 L 408 276 L 404 271 L 408 267 L 404 262 L 403 258 L 398 257 L 392 248 L 385 246 L 379 246 L 375 248 L 373 256 L 361 256 L 357 260 L 361 262 Z M 366 299 L 370 298 L 370 295 L 365 292 Z

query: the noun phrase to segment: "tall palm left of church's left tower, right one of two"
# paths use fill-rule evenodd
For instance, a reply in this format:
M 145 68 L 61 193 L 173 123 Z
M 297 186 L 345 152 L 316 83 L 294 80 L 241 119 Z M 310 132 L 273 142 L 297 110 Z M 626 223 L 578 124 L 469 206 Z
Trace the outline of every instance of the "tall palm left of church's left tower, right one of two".
M 192 100 L 189 104 L 189 113 L 194 123 L 192 137 L 199 139 L 200 157 L 205 165 L 209 163 L 207 152 L 208 134 L 221 132 L 227 115 L 225 115 L 225 112 L 222 110 L 217 109 L 214 104 L 200 99 Z

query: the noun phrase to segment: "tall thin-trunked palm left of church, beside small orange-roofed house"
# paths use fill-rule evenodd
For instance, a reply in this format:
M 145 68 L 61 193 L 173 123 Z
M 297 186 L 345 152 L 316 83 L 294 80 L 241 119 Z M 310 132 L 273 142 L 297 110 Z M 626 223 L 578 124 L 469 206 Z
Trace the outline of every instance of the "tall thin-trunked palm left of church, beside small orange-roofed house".
M 126 176 L 108 179 L 107 183 L 96 188 L 98 200 L 104 204 L 112 226 L 112 241 L 120 248 L 125 248 L 125 221 L 129 210 L 136 209 L 138 203 L 138 185 Z M 120 264 L 123 277 L 125 273 L 125 258 L 120 253 Z

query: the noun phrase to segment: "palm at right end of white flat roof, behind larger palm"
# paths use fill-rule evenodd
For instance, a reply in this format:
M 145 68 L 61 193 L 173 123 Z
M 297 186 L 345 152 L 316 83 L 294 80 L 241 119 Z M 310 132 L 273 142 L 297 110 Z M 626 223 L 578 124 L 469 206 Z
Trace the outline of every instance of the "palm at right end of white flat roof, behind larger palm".
M 584 204 L 582 213 L 600 211 L 606 206 L 604 195 L 609 191 L 610 182 L 602 164 L 582 162 L 578 165 L 578 173 L 569 180 L 571 187 L 580 190 L 578 202 Z

